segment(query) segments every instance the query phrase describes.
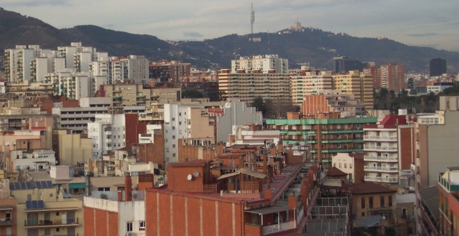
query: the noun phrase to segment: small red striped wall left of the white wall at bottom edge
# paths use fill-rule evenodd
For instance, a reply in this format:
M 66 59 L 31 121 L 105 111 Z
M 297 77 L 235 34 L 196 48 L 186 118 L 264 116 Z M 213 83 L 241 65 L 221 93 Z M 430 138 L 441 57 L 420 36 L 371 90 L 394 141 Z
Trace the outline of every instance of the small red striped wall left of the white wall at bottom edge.
M 83 207 L 83 221 L 84 235 L 118 235 L 116 212 Z

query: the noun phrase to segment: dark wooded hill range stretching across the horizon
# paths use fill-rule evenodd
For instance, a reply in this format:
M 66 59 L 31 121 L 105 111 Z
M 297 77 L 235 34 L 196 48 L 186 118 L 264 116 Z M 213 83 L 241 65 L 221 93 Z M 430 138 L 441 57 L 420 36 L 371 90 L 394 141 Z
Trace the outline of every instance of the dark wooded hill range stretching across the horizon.
M 150 60 L 182 60 L 196 67 L 214 69 L 229 68 L 230 60 L 239 56 L 273 53 L 288 58 L 291 68 L 309 62 L 313 67 L 331 69 L 332 57 L 341 55 L 362 62 L 374 61 L 377 65 L 397 62 L 404 64 L 406 71 L 419 72 L 428 71 L 431 58 L 444 58 L 448 61 L 449 72 L 459 71 L 458 52 L 413 47 L 389 39 L 353 37 L 316 28 L 172 42 L 152 35 L 112 31 L 92 25 L 58 29 L 33 17 L 0 10 L 1 53 L 17 44 L 39 44 L 42 48 L 56 49 L 70 45 L 70 42 L 82 42 L 98 51 L 108 51 L 110 56 L 145 55 Z

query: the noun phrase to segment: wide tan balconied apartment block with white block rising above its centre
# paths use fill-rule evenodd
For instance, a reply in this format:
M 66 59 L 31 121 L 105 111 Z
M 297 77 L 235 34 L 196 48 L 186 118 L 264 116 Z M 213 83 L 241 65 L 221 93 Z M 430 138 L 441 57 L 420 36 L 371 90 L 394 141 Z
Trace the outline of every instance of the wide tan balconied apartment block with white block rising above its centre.
M 232 60 L 232 69 L 218 72 L 218 89 L 227 99 L 251 103 L 261 96 L 275 103 L 291 100 L 288 60 L 277 55 Z

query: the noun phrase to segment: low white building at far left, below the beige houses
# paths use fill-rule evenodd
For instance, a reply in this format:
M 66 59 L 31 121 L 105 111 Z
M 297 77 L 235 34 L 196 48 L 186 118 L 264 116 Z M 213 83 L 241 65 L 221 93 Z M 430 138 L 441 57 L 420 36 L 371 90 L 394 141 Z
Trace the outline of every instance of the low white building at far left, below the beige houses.
M 52 150 L 13 150 L 11 151 L 11 160 L 13 161 L 13 168 L 16 170 L 38 171 L 56 165 L 56 157 Z

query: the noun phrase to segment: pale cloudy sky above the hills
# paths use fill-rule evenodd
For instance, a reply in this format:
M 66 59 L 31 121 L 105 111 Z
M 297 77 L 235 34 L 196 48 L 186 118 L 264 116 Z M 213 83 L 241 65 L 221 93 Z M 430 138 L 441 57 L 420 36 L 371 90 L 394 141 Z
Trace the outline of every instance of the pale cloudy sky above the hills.
M 254 32 L 303 26 L 459 51 L 458 0 L 254 0 Z M 161 40 L 250 33 L 250 1 L 1 0 L 5 10 L 56 28 L 93 24 Z

